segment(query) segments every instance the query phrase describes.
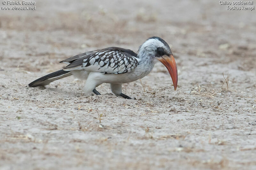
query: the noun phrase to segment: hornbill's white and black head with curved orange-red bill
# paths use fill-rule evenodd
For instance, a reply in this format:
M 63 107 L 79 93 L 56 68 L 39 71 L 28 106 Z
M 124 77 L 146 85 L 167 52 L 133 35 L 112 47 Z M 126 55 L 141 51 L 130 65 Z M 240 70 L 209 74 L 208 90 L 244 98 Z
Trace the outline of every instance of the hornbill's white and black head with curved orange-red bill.
M 143 56 L 141 53 L 146 53 L 153 60 L 159 60 L 164 64 L 172 78 L 174 90 L 176 90 L 178 83 L 178 71 L 169 45 L 160 37 L 150 37 L 140 46 L 138 55 Z

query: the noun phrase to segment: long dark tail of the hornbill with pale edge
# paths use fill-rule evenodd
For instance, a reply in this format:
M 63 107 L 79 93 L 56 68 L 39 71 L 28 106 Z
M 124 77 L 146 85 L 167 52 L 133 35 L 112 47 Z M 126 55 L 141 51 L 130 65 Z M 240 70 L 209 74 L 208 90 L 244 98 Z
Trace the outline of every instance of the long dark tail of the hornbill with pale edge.
M 41 78 L 36 79 L 35 81 L 28 84 L 29 87 L 45 86 L 49 85 L 51 82 L 58 80 L 60 78 L 71 76 L 70 71 L 59 70 L 53 73 L 47 74 Z

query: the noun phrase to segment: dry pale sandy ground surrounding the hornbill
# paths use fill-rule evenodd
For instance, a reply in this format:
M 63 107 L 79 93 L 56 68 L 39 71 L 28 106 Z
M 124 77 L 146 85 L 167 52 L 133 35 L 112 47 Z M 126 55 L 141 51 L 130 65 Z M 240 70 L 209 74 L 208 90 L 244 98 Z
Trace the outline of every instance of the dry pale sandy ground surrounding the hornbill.
M 256 168 L 255 11 L 208 0 L 35 6 L 0 11 L 0 169 Z M 153 35 L 172 48 L 177 91 L 161 63 L 143 86 L 123 86 L 137 100 L 107 84 L 85 96 L 73 77 L 28 87 L 70 56 L 137 51 Z

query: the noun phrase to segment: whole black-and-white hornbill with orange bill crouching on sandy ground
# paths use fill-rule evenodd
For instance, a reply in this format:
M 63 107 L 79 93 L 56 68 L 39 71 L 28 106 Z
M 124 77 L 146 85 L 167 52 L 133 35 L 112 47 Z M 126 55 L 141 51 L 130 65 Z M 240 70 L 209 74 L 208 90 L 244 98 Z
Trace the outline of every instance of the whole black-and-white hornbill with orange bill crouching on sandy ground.
M 133 82 L 145 77 L 159 60 L 169 71 L 174 90 L 178 82 L 176 62 L 171 48 L 160 37 L 150 37 L 138 50 L 138 54 L 130 49 L 119 47 L 103 48 L 85 52 L 61 61 L 68 65 L 62 70 L 36 79 L 29 87 L 45 86 L 60 78 L 74 75 L 86 79 L 84 92 L 86 94 L 100 93 L 95 89 L 102 83 L 110 83 L 111 91 L 125 99 L 131 97 L 122 93 L 122 84 Z

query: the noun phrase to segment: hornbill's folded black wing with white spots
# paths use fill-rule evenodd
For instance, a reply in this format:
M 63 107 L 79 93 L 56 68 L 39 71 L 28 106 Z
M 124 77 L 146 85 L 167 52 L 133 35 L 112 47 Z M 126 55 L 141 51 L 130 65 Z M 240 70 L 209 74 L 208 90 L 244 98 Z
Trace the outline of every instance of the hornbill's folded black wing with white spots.
M 97 52 L 78 58 L 67 65 L 63 70 L 86 70 L 105 74 L 122 74 L 137 67 L 136 53 L 120 49 L 105 48 Z M 133 55 L 134 54 L 134 55 Z

